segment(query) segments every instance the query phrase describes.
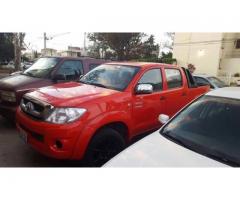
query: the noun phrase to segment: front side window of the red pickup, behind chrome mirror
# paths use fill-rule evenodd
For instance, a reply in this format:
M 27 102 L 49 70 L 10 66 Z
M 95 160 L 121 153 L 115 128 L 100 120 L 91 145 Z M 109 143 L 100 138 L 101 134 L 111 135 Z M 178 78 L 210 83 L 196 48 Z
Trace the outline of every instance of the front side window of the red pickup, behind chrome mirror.
M 162 90 L 162 74 L 160 69 L 151 69 L 141 77 L 138 84 L 151 84 L 153 86 L 153 91 Z

